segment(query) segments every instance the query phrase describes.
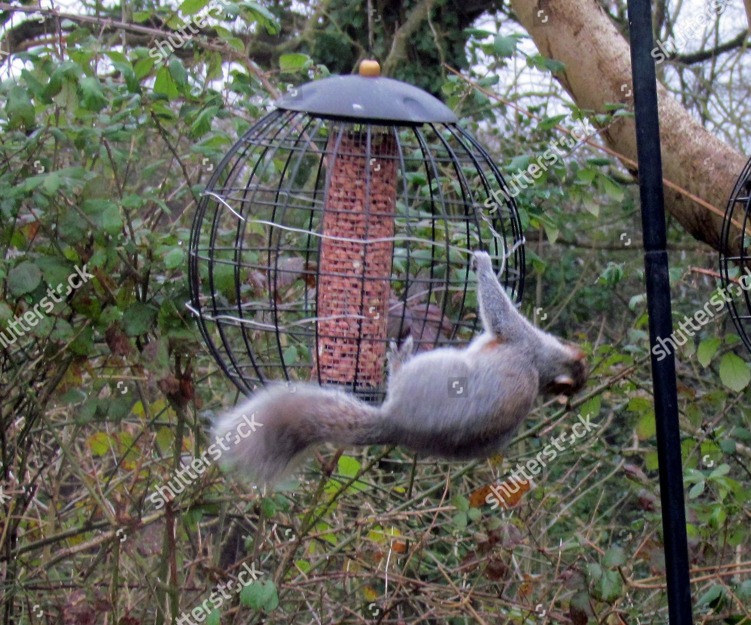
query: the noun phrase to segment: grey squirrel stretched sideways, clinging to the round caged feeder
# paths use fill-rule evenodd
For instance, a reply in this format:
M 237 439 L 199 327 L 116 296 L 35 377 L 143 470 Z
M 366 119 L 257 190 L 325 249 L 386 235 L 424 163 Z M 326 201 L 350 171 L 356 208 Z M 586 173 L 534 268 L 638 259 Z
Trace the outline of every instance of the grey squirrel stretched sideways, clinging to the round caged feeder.
M 216 422 L 216 439 L 231 441 L 222 461 L 273 483 L 323 442 L 396 444 L 449 460 L 490 457 L 508 445 L 538 394 L 579 391 L 585 353 L 517 311 L 486 252 L 474 252 L 473 263 L 484 332 L 465 349 L 412 355 L 411 337 L 400 349 L 392 343 L 381 406 L 303 382 L 263 388 Z M 252 432 L 233 436 L 249 424 Z

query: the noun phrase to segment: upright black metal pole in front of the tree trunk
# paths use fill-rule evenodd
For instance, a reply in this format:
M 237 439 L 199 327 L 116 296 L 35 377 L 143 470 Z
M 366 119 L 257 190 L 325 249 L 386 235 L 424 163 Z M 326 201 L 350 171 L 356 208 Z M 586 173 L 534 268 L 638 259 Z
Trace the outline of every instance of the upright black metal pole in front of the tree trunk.
M 652 57 L 652 9 L 650 0 L 628 0 L 629 35 L 636 148 L 639 162 L 641 228 L 644 237 L 644 272 L 647 279 L 647 311 L 650 347 L 673 331 L 668 252 L 665 251 L 665 205 L 662 189 L 662 156 L 657 114 L 657 81 Z M 668 352 L 668 350 L 665 350 Z M 665 539 L 665 572 L 668 578 L 668 615 L 671 625 L 692 623 L 689 554 L 686 543 L 686 509 L 683 503 L 683 466 L 672 352 L 659 360 L 652 352 L 652 382 L 657 424 L 659 491 L 662 501 L 662 533 Z

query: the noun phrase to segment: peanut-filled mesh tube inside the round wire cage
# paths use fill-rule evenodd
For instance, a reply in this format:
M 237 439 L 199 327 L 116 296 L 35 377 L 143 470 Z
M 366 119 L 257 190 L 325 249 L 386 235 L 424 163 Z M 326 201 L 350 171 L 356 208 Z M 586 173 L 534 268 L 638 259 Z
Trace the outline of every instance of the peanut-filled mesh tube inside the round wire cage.
M 388 131 L 350 126 L 333 134 L 327 152 L 314 373 L 366 390 L 384 378 L 397 143 Z

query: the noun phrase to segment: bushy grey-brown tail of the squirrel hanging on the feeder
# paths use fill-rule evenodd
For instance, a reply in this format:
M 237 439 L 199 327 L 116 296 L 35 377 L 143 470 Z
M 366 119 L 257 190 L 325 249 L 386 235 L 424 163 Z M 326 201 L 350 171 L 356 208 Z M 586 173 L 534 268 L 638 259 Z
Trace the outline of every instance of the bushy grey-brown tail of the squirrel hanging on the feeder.
M 222 446 L 221 463 L 254 482 L 273 483 L 315 443 L 388 442 L 380 417 L 378 408 L 342 391 L 295 382 L 263 388 L 238 404 L 216 421 L 213 438 Z

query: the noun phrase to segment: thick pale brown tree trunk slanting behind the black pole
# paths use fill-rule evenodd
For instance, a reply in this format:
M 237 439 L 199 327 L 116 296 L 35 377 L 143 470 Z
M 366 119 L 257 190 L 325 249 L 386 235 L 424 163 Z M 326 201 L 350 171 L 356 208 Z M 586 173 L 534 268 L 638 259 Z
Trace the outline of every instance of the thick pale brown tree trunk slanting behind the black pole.
M 629 44 L 596 0 L 511 0 L 511 5 L 538 50 L 566 65 L 556 77 L 579 107 L 604 112 L 604 104 L 619 101 L 633 107 Z M 665 180 L 724 213 L 745 157 L 702 128 L 662 85 L 657 90 Z M 636 160 L 633 119 L 611 125 L 602 136 L 616 152 Z M 720 249 L 721 215 L 668 187 L 665 210 L 698 240 Z M 738 229 L 731 232 L 731 243 L 738 243 L 737 234 Z

